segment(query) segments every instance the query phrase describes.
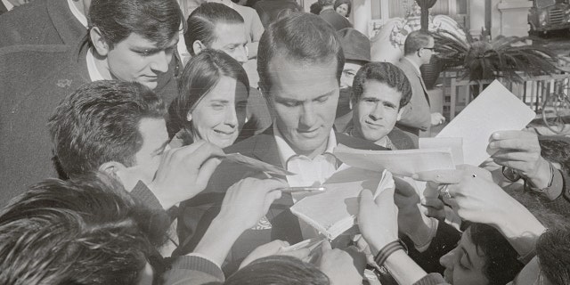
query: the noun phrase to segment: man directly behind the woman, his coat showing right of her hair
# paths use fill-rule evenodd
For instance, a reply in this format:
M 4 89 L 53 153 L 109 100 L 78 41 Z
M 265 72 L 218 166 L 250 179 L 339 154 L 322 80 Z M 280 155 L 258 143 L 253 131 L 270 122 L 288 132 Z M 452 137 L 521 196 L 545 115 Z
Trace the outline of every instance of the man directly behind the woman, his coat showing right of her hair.
M 201 4 L 191 12 L 187 26 L 184 40 L 191 55 L 211 48 L 229 54 L 241 64 L 248 61 L 248 39 L 244 31 L 244 21 L 232 8 L 219 3 Z M 250 77 L 249 82 L 251 81 Z M 265 99 L 253 87 L 249 88 L 247 118 L 248 122 L 243 126 L 238 140 L 259 134 L 272 124 Z

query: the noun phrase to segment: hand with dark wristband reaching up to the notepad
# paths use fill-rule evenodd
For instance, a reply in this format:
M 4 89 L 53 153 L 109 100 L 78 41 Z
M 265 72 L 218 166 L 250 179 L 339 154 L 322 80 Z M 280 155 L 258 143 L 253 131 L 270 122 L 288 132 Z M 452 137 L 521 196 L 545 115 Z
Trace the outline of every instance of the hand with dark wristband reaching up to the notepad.
M 371 246 L 372 253 L 398 240 L 398 208 L 394 204 L 394 191 L 382 191 L 376 199 L 368 189 L 360 193 L 358 227 Z

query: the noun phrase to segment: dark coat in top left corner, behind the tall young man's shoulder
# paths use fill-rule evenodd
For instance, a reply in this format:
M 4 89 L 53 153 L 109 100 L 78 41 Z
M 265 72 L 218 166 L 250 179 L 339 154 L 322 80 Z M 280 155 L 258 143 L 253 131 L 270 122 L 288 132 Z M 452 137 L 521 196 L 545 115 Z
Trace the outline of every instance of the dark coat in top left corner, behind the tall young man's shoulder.
M 75 45 L 87 29 L 66 0 L 21 5 L 0 17 L 0 47 L 7 45 Z

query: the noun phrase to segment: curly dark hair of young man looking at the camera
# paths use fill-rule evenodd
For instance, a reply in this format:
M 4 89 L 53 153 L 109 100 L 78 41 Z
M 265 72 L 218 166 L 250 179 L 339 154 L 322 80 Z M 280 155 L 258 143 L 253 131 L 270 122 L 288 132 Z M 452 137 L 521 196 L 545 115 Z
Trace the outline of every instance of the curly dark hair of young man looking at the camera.
M 400 109 L 407 105 L 411 99 L 411 85 L 403 70 L 389 62 L 370 62 L 358 69 L 353 81 L 353 100 L 358 102 L 364 93 L 364 83 L 368 80 L 376 80 L 384 83 L 399 93 Z

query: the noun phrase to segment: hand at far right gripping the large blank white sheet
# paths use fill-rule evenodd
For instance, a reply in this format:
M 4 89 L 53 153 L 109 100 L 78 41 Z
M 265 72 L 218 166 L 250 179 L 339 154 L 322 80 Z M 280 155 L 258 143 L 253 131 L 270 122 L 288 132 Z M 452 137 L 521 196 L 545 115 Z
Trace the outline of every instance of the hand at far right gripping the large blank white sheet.
M 527 131 L 495 132 L 491 135 L 489 150 L 495 151 L 491 158 L 496 164 L 516 170 L 537 188 L 549 186 L 550 163 L 541 156 L 536 134 Z

